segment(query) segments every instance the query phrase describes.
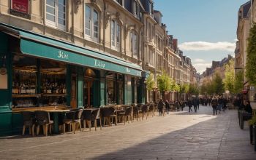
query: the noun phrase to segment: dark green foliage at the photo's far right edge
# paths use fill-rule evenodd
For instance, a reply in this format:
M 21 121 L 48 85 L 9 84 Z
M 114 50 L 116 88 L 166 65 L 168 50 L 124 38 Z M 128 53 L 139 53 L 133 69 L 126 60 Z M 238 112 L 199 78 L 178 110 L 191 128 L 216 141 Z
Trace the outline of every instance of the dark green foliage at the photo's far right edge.
M 256 86 L 256 25 L 249 31 L 246 59 L 246 78 L 249 84 Z

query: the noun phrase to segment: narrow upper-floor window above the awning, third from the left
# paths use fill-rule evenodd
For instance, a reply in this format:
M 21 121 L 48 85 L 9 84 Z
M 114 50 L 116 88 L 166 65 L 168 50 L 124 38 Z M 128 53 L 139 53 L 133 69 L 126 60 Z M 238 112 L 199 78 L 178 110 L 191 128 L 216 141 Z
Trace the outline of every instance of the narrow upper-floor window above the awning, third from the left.
M 111 47 L 120 49 L 120 25 L 116 20 L 111 20 Z

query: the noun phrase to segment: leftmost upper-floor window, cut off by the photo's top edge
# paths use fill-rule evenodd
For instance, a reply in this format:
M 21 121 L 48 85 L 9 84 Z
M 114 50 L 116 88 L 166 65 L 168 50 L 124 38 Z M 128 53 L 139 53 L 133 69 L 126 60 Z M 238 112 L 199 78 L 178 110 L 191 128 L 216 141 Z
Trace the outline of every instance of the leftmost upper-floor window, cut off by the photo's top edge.
M 66 0 L 46 0 L 46 24 L 65 30 Z

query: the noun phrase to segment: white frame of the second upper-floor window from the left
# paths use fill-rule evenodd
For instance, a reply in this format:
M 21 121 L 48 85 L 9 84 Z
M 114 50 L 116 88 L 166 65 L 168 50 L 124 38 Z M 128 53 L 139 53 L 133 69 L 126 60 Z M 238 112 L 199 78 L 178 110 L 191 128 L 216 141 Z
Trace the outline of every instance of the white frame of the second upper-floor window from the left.
M 87 7 L 89 7 L 90 8 L 90 15 L 89 15 L 89 24 L 90 24 L 90 29 L 89 29 L 89 32 L 90 32 L 90 35 L 88 35 L 87 33 L 86 33 L 86 8 Z M 94 31 L 94 13 L 97 13 L 97 23 L 98 23 L 98 26 L 97 26 L 97 28 L 98 28 L 98 31 Z M 89 40 L 92 40 L 92 41 L 94 41 L 94 42 L 97 42 L 97 43 L 99 43 L 99 33 L 100 33 L 100 31 L 99 31 L 99 27 L 100 27 L 100 25 L 99 25 L 99 11 L 95 8 L 95 7 L 92 7 L 91 5 L 89 5 L 89 4 L 85 4 L 85 7 L 84 7 L 84 18 L 83 18 L 83 23 L 84 23 L 84 28 L 83 28 L 83 30 L 84 30 L 84 37 L 86 38 L 86 39 L 89 39 Z M 94 36 L 94 33 L 97 33 L 98 34 L 98 36 L 97 37 L 95 37 Z

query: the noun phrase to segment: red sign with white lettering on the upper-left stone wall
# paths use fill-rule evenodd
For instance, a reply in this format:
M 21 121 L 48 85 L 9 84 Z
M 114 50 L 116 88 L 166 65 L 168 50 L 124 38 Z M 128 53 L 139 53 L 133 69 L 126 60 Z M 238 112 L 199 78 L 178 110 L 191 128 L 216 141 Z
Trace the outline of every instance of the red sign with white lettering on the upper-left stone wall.
M 11 0 L 10 13 L 15 16 L 30 19 L 29 0 Z

